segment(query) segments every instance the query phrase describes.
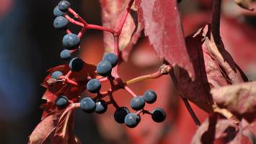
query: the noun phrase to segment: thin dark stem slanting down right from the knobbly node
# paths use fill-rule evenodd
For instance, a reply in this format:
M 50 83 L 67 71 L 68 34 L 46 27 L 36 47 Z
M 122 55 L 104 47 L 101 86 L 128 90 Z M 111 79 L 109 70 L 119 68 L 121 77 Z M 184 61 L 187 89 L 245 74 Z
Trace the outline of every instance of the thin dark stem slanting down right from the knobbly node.
M 178 81 L 175 76 L 175 71 L 172 68 L 172 70 L 169 72 L 170 76 L 172 77 L 173 84 L 175 85 L 177 89 Z M 192 107 L 190 106 L 190 103 L 185 99 L 184 97 L 180 96 L 182 98 L 182 101 L 185 104 L 185 107 L 187 108 L 187 111 L 190 113 L 190 116 L 192 117 L 193 121 L 195 122 L 195 125 L 198 127 L 201 125 L 200 120 L 198 120 L 198 117 L 195 115 L 195 112 L 193 111 Z

